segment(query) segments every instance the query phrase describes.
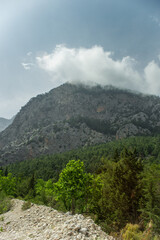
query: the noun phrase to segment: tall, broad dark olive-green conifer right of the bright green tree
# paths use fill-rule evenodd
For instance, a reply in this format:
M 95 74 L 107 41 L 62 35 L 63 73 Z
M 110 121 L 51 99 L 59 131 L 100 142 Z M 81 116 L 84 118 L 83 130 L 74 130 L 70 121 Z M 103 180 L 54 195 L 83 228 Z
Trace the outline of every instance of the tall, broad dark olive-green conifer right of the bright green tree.
M 123 150 L 118 162 L 108 162 L 102 196 L 102 216 L 115 228 L 124 227 L 127 222 L 135 223 L 140 215 L 142 198 L 141 172 L 143 165 L 136 151 Z

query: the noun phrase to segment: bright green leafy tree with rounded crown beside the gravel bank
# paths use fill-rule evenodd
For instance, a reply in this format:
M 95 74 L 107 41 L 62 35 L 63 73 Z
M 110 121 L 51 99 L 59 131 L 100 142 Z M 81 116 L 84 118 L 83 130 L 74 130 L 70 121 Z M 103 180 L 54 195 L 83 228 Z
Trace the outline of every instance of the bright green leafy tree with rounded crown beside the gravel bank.
M 84 172 L 83 162 L 71 160 L 60 173 L 58 182 L 54 184 L 57 199 L 62 200 L 65 208 L 72 210 L 72 214 L 75 213 L 77 200 L 87 197 L 85 190 L 89 191 L 89 176 Z

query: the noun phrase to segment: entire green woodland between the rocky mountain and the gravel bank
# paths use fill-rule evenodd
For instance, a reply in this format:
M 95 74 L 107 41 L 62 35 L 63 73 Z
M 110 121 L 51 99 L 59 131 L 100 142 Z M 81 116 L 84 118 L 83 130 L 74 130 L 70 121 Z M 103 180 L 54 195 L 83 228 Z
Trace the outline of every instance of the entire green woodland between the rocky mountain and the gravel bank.
M 1 167 L 0 213 L 11 197 L 91 216 L 115 238 L 160 239 L 160 136 Z

